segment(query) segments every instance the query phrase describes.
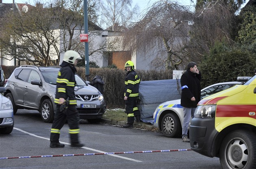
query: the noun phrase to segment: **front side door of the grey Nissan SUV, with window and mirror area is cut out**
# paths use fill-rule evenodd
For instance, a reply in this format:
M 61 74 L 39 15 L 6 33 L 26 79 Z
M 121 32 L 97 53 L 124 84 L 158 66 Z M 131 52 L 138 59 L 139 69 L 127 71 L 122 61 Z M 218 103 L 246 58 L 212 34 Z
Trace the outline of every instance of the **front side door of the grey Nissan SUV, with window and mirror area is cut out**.
M 39 108 L 39 99 L 41 98 L 39 93 L 42 90 L 42 87 L 39 85 L 32 85 L 31 80 L 41 80 L 37 71 L 31 70 L 28 75 L 28 80 L 24 86 L 24 106 Z

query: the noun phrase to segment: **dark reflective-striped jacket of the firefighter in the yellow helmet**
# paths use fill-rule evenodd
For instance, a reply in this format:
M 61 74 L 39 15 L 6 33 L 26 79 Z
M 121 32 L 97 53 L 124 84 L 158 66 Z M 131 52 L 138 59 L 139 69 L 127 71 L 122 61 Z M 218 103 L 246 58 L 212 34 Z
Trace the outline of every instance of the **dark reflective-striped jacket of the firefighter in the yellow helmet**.
M 125 91 L 124 96 L 138 97 L 139 96 L 139 83 L 141 82 L 137 72 L 131 70 L 127 72 L 127 76 L 124 80 Z

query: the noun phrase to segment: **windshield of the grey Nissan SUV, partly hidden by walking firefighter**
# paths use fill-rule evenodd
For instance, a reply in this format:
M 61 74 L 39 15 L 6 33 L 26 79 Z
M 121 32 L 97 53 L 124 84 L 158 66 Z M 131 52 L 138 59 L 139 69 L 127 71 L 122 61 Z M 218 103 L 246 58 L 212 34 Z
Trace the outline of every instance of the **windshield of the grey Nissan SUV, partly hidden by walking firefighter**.
M 56 79 L 58 77 L 58 71 L 45 71 L 41 72 L 43 75 L 44 80 L 47 83 L 50 83 L 52 85 L 56 85 Z M 78 86 L 86 86 L 86 83 L 82 78 L 80 78 L 77 74 L 75 74 L 76 79 L 76 85 Z

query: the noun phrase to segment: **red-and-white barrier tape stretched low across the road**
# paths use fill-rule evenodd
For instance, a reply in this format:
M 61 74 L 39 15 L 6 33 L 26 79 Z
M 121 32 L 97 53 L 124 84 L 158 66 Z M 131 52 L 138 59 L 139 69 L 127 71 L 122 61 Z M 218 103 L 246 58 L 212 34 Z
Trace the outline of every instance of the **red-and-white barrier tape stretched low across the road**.
M 38 158 L 38 157 L 59 157 L 59 156 L 89 156 L 89 155 L 105 155 L 105 154 L 131 154 L 131 153 L 149 153 L 149 152 L 173 152 L 173 151 L 189 151 L 191 149 L 179 150 L 148 150 L 148 151 L 130 151 L 130 152 L 104 152 L 104 153 L 87 153 L 87 154 L 63 154 L 63 155 L 45 155 L 45 156 L 20 156 L 20 157 L 0 157 L 0 159 L 13 158 Z

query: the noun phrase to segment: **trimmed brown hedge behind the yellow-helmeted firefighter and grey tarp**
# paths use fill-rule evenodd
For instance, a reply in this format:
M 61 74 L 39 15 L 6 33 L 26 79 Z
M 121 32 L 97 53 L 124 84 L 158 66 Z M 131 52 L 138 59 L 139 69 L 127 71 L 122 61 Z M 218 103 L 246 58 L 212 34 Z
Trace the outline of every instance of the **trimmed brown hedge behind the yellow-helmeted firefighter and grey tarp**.
M 85 77 L 85 68 L 78 67 L 77 74 L 83 79 Z M 104 80 L 104 98 L 108 108 L 124 108 L 124 78 L 126 71 L 116 68 L 90 68 L 89 77 L 91 81 L 94 76 L 98 75 Z M 163 80 L 172 78 L 172 70 L 155 71 L 155 70 L 136 70 L 141 81 Z

